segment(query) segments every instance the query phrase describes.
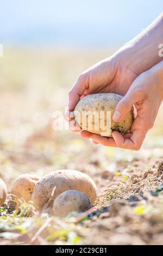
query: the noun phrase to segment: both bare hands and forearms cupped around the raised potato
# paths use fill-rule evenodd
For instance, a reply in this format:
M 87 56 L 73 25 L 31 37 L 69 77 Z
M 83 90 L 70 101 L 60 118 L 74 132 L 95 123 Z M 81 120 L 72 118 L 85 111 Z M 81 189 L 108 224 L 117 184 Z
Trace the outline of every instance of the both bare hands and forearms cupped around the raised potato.
M 70 113 L 81 97 L 93 93 L 125 95 L 118 103 L 113 119 L 115 121 L 123 120 L 131 104 L 134 104 L 137 109 L 137 117 L 130 133 L 122 136 L 118 132 L 112 132 L 113 138 L 106 138 L 82 131 L 81 136 L 92 138 L 93 143 L 133 150 L 140 149 L 147 131 L 153 126 L 162 101 L 162 96 L 160 96 L 162 95 L 161 86 L 163 87 L 161 72 L 156 72 L 156 70 L 162 69 L 163 57 L 158 54 L 159 45 L 162 42 L 163 14 L 111 57 L 83 72 L 69 93 L 69 111 L 66 113 L 66 119 L 70 121 L 70 128 L 74 132 L 80 130 L 73 115 L 70 118 Z M 153 102 L 153 108 L 155 105 L 153 114 L 149 108 L 151 104 L 147 104 L 145 98 L 148 99 L 148 102 Z M 151 115 L 148 114 L 149 112 Z

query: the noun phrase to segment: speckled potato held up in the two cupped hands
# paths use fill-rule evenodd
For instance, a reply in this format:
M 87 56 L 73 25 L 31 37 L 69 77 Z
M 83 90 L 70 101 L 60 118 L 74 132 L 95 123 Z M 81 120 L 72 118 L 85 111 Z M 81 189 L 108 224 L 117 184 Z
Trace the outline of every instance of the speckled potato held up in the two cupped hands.
M 118 131 L 121 134 L 126 133 L 130 130 L 134 120 L 134 108 L 130 110 L 123 121 L 116 123 L 112 120 L 116 105 L 121 99 L 122 96 L 115 93 L 87 95 L 75 107 L 74 118 L 82 130 L 101 136 L 112 137 L 112 131 Z M 111 123 L 109 122 L 109 115 L 106 114 L 109 111 Z

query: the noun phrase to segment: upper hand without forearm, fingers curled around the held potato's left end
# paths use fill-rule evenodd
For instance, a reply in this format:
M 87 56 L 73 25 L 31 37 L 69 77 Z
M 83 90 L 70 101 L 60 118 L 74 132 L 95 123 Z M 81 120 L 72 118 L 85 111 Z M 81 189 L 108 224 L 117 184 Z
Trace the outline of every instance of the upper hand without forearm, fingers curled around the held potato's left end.
M 127 56 L 126 56 L 127 58 Z M 92 66 L 89 70 L 79 76 L 69 93 L 66 120 L 70 121 L 70 129 L 74 132 L 80 131 L 71 115 L 78 101 L 85 95 L 93 93 L 117 93 L 125 95 L 131 83 L 137 77 L 136 72 L 127 66 L 127 59 L 117 54 Z M 88 138 L 89 133 L 82 131 L 82 137 Z

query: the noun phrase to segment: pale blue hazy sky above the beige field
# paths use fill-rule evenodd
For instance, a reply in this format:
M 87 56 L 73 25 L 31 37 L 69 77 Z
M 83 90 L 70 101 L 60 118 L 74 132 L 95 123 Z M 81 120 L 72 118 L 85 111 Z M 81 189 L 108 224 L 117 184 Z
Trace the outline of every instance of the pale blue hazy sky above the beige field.
M 0 0 L 0 44 L 120 46 L 162 11 L 162 0 Z

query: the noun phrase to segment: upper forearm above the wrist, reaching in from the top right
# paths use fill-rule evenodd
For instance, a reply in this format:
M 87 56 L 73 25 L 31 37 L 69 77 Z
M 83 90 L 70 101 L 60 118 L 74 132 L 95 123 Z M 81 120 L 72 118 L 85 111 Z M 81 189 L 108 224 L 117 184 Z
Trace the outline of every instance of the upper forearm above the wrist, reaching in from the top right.
M 163 13 L 148 28 L 124 45 L 116 54 L 124 59 L 136 75 L 149 70 L 163 60 L 159 45 L 163 44 Z

